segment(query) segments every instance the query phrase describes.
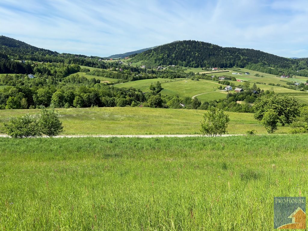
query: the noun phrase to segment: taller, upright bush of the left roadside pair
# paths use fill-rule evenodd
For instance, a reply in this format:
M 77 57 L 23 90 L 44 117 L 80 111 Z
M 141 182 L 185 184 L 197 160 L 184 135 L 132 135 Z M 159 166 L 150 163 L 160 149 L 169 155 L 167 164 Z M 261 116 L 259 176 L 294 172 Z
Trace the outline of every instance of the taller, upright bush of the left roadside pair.
M 55 109 L 42 109 L 38 120 L 41 132 L 49 137 L 57 136 L 63 132 L 62 122 L 59 120 L 59 112 Z

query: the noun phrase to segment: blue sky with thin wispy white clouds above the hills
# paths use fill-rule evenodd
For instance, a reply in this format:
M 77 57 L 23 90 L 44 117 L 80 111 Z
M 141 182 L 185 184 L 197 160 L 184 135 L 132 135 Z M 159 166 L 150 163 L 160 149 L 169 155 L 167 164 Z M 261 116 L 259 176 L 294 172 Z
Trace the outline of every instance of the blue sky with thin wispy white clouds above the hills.
M 5 1 L 0 34 L 109 56 L 175 40 L 308 57 L 308 1 Z

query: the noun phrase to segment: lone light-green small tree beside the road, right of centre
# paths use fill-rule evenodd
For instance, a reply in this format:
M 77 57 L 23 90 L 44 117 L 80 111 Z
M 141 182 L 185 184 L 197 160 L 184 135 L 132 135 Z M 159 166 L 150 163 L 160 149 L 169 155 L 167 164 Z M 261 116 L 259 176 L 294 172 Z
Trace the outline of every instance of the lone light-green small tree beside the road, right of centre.
M 203 115 L 200 131 L 209 137 L 225 134 L 229 121 L 229 115 L 223 110 L 209 107 Z

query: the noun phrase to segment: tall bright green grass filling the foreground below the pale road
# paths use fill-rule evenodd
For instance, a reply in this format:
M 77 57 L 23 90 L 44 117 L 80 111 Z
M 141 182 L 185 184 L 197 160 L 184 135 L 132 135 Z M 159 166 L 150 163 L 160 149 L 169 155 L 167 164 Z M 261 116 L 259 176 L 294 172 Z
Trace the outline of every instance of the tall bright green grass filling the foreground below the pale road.
M 274 230 L 308 136 L 0 138 L 1 230 Z

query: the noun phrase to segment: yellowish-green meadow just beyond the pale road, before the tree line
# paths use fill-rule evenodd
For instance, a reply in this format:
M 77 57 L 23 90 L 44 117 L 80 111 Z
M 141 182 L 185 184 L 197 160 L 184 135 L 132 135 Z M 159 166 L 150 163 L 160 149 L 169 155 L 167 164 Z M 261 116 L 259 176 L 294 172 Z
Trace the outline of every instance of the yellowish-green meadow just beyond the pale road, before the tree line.
M 64 134 L 67 135 L 165 135 L 200 134 L 203 110 L 163 109 L 150 107 L 89 107 L 59 109 Z M 16 109 L 0 111 L 0 133 L 3 123 L 12 116 L 26 113 L 38 114 L 40 109 Z M 252 113 L 227 112 L 229 134 L 245 134 L 256 130 L 267 134 L 265 128 L 253 119 Z M 289 126 L 278 126 L 276 133 L 288 133 Z

